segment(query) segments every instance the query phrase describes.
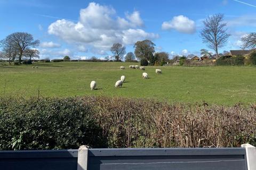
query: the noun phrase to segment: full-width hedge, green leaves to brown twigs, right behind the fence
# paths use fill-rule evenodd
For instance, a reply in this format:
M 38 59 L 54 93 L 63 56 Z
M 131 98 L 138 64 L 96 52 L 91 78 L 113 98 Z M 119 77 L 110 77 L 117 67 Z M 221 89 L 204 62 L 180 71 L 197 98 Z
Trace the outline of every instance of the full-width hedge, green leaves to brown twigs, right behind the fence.
M 0 97 L 0 150 L 256 145 L 256 104 Z

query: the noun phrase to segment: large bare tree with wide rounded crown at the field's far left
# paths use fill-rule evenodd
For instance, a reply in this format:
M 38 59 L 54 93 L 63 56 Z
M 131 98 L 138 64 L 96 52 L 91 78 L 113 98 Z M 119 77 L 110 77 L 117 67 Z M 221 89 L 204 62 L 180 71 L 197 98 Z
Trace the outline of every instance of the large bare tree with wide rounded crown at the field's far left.
M 19 64 L 21 57 L 26 49 L 36 48 L 39 45 L 39 40 L 34 40 L 33 35 L 27 32 L 14 32 L 1 41 L 1 46 L 10 46 L 18 52 Z

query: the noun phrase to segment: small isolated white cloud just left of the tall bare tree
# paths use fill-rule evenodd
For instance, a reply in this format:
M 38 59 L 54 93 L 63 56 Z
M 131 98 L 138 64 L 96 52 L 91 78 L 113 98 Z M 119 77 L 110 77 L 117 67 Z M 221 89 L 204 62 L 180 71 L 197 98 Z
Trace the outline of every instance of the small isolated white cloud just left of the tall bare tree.
M 162 29 L 163 30 L 175 29 L 182 33 L 195 33 L 196 23 L 195 21 L 190 20 L 186 16 L 179 15 L 179 16 L 174 16 L 171 21 L 163 22 Z

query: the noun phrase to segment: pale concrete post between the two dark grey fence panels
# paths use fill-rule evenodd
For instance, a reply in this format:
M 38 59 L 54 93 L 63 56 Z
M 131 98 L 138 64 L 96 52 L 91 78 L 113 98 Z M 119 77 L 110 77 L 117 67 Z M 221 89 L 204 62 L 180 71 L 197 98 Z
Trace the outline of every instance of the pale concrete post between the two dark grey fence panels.
M 78 149 L 77 170 L 87 170 L 88 146 L 82 145 Z

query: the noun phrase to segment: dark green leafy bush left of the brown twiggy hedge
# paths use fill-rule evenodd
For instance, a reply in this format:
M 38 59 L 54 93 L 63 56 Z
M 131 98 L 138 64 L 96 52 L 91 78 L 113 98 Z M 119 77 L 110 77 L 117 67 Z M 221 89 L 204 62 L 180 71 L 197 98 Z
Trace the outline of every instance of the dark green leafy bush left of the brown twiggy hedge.
M 0 98 L 0 150 L 105 147 L 102 130 L 81 100 Z

